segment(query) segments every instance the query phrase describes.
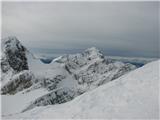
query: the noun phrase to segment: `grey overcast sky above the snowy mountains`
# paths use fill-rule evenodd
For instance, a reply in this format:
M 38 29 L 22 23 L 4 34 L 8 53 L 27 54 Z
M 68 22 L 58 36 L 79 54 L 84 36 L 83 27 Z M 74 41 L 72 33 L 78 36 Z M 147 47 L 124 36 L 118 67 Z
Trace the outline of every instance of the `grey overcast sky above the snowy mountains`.
M 3 2 L 2 37 L 29 48 L 158 56 L 158 2 Z M 54 51 L 53 51 L 54 52 Z

